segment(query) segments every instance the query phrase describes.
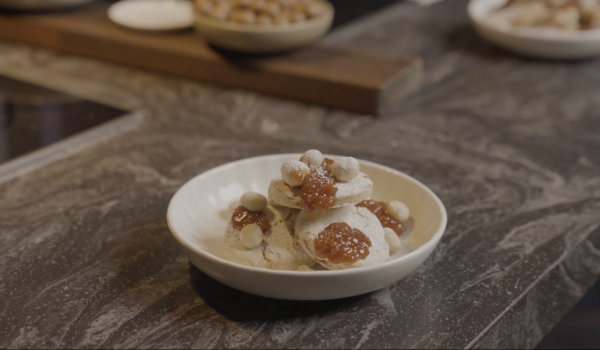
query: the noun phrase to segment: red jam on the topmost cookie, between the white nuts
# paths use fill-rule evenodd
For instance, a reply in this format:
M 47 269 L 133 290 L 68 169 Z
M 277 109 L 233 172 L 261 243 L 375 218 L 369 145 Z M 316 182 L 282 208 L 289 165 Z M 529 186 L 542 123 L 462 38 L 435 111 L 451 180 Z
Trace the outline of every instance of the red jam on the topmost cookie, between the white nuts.
M 325 158 L 320 166 L 310 165 L 310 174 L 302 183 L 300 199 L 307 212 L 327 210 L 335 205 L 337 187 L 331 174 L 333 160 Z

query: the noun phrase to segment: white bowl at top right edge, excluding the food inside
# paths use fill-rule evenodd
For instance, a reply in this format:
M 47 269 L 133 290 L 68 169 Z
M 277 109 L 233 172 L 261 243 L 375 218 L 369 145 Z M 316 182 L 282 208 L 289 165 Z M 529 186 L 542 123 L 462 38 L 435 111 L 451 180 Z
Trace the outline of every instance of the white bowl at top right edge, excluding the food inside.
M 471 0 L 469 17 L 485 39 L 527 56 L 546 59 L 585 59 L 600 55 L 600 30 L 567 32 L 538 28 L 503 27 L 490 21 L 507 0 Z

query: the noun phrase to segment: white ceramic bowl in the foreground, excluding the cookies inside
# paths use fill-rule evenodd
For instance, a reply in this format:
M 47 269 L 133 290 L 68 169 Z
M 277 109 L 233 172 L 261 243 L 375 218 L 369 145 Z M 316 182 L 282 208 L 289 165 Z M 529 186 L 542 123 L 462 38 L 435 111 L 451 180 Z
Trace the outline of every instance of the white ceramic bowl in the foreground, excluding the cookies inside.
M 222 241 L 227 205 L 247 191 L 266 194 L 283 162 L 301 154 L 277 154 L 239 160 L 204 172 L 181 187 L 169 204 L 173 236 L 200 270 L 232 288 L 265 297 L 327 300 L 387 287 L 421 265 L 446 229 L 446 209 L 425 185 L 397 170 L 359 160 L 374 182 L 373 198 L 400 199 L 411 210 L 411 225 L 402 235 L 409 252 L 383 264 L 340 271 L 274 271 L 224 260 Z M 334 158 L 335 156 L 328 156 Z

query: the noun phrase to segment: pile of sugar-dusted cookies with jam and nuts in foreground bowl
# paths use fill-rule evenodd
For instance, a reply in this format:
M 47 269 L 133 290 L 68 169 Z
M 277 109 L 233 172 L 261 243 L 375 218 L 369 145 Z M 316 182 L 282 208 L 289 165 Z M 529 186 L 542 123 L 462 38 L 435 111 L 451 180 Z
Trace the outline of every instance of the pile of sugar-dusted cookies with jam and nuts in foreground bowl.
M 382 263 L 400 248 L 410 213 L 401 202 L 369 199 L 372 192 L 373 182 L 356 159 L 327 159 L 317 150 L 307 151 L 282 164 L 268 200 L 249 192 L 232 206 L 224 257 L 247 266 L 299 271 Z

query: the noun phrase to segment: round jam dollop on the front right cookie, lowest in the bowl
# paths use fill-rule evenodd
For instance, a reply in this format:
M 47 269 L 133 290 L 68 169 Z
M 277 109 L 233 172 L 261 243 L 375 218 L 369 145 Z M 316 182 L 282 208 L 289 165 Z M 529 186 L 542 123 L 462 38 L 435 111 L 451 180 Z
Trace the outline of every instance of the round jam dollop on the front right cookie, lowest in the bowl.
M 354 263 L 369 256 L 371 240 L 345 222 L 335 222 L 315 239 L 315 253 L 332 264 Z

